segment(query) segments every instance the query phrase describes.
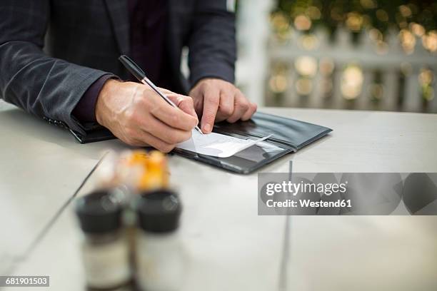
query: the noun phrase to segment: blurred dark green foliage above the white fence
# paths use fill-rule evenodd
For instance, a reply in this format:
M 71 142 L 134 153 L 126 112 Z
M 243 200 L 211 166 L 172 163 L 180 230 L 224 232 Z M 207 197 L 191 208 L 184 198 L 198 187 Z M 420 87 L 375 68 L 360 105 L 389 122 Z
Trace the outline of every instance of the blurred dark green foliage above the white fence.
M 301 30 L 324 26 L 335 31 L 340 25 L 353 32 L 376 28 L 383 33 L 391 28 L 408 29 L 411 24 L 420 24 L 425 31 L 437 28 L 437 1 L 428 0 L 278 0 L 275 12 L 295 26 L 296 17 L 306 16 L 311 28 L 303 25 Z

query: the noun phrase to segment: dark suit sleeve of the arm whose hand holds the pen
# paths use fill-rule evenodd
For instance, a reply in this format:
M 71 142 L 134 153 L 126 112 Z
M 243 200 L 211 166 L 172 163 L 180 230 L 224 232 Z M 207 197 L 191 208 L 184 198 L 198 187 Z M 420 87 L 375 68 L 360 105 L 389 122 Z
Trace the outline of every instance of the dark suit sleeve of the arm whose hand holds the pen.
M 85 133 L 71 112 L 106 72 L 47 56 L 42 49 L 49 15 L 49 0 L 0 1 L 0 97 Z

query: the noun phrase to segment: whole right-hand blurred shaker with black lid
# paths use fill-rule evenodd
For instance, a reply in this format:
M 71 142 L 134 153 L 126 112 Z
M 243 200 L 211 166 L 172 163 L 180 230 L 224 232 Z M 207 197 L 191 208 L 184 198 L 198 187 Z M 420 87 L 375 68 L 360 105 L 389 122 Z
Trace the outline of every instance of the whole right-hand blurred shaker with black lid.
M 137 284 L 142 290 L 179 290 L 184 253 L 179 240 L 181 202 L 170 190 L 154 190 L 139 196 L 137 213 Z

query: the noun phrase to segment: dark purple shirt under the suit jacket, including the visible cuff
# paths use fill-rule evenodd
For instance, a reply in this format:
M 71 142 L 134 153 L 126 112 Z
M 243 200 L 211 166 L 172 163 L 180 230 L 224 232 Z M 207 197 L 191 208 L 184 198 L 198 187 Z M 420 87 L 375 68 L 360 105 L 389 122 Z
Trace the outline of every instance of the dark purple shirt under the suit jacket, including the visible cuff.
M 130 19 L 130 56 L 146 72 L 156 86 L 169 87 L 166 78 L 166 0 L 127 0 Z M 81 122 L 95 122 L 96 101 L 101 88 L 109 78 L 107 74 L 94 82 L 84 93 L 73 115 Z M 137 81 L 131 76 L 130 81 Z

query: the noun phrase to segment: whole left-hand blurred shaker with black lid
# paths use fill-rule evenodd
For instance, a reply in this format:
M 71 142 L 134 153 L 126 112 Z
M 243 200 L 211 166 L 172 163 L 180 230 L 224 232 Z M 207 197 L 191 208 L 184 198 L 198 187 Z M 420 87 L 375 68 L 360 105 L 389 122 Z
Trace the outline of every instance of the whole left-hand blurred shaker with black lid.
M 84 232 L 81 250 L 89 288 L 116 290 L 131 282 L 122 212 L 123 203 L 108 190 L 86 195 L 76 203 L 76 214 Z

